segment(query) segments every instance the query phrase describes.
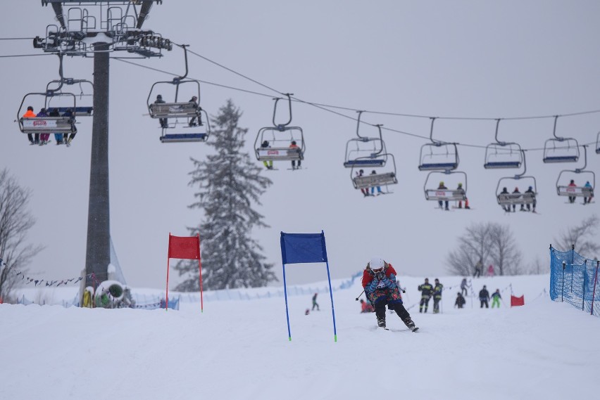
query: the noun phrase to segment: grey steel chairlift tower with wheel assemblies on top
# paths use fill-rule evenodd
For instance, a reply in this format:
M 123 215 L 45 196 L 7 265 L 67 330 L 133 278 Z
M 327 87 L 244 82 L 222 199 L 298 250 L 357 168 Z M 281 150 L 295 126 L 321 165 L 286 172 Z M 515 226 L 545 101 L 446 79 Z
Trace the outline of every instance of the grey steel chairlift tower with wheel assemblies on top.
M 56 13 L 58 25 L 47 25 L 44 37 L 33 46 L 59 56 L 94 58 L 94 120 L 89 171 L 87 214 L 86 286 L 108 279 L 111 262 L 110 202 L 108 198 L 108 82 L 111 53 L 161 57 L 170 51 L 168 39 L 142 30 L 153 4 L 161 0 L 42 0 Z M 92 276 L 94 278 L 92 278 Z

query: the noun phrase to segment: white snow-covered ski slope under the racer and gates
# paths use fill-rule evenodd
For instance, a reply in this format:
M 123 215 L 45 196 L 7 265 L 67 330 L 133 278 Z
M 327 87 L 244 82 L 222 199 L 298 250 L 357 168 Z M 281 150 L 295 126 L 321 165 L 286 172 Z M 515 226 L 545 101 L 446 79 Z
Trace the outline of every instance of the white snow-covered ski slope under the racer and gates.
M 432 276 L 430 279 L 434 278 Z M 411 333 L 395 314 L 389 331 L 360 314 L 358 281 L 311 296 L 184 302 L 180 311 L 0 304 L 0 399 L 573 399 L 594 398 L 599 318 L 544 295 L 549 276 L 473 280 L 502 292 L 500 309 L 467 299 L 461 277 L 440 277 L 442 314 L 411 307 L 423 278 L 402 278 Z M 512 285 L 525 307 L 506 307 Z M 70 298 L 54 291 L 46 297 Z M 256 291 L 265 289 L 256 289 Z M 133 290 L 135 292 L 135 290 Z M 158 290 L 156 290 L 158 292 Z M 40 296 L 42 294 L 39 294 Z M 30 295 L 28 295 L 30 296 Z M 599 304 L 600 306 L 600 304 Z

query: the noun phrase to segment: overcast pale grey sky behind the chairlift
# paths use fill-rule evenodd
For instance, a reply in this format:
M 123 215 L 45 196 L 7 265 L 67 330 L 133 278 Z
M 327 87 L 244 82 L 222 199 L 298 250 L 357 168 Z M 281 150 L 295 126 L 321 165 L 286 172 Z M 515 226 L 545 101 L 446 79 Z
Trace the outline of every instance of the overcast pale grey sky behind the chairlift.
M 46 25 L 56 23 L 51 7 L 39 1 L 30 1 L 26 9 L 22 1 L 4 3 L 0 37 L 43 36 Z M 387 149 L 396 158 L 399 184 L 390 187 L 392 195 L 363 198 L 352 187 L 349 170 L 342 167 L 346 141 L 356 134 L 351 119 L 356 113 L 340 111 L 351 117 L 346 118 L 311 105 L 293 105 L 292 124 L 304 129 L 306 169 L 292 172 L 285 162 L 280 170 L 268 172 L 274 184 L 258 209 L 270 228 L 255 232 L 277 274 L 280 231 L 323 229 L 332 278 L 361 270 L 373 254 L 392 262 L 401 274 L 431 278 L 445 273 L 445 259 L 457 236 L 474 222 L 510 225 L 525 262 L 539 258 L 546 263 L 548 247 L 561 230 L 598 213 L 597 202 L 568 205 L 556 195 L 559 172 L 581 163 L 544 164 L 541 151 L 527 152 L 527 174 L 537 179 L 537 215 L 505 214 L 496 204 L 496 184 L 516 171 L 489 171 L 483 163 L 484 148 L 494 141 L 494 118 L 600 109 L 595 41 L 600 37 L 599 12 L 596 1 L 166 0 L 152 8 L 144 27 L 304 101 L 492 119 L 435 122 L 435 138 L 471 145 L 458 146 L 458 152 L 459 169 L 468 174 L 473 210 L 440 212 L 435 202 L 425 200 L 427 174 L 417 168 L 420 147 L 427 140 L 384 131 Z M 0 41 L 0 53 L 42 51 L 32 49 L 30 40 Z M 178 49 L 161 59 L 133 61 L 173 75 L 184 70 Z M 65 76 L 92 79 L 92 63 L 91 58 L 66 58 Z M 18 106 L 25 93 L 43 91 L 58 77 L 58 58 L 1 58 L 0 65 L 0 166 L 32 189 L 37 224 L 30 240 L 46 246 L 32 262 L 30 276 L 78 276 L 85 266 L 92 120 L 78 119 L 79 134 L 70 148 L 54 143 L 28 146 L 13 122 Z M 195 79 L 268 95 L 201 86 L 201 105 L 209 114 L 227 98 L 242 109 L 240 125 L 249 128 L 246 148 L 251 152 L 258 129 L 271 125 L 270 96 L 275 93 L 193 55 L 189 68 Z M 202 159 L 210 149 L 201 143 L 161 144 L 158 122 L 144 115 L 151 85 L 173 75 L 111 60 L 111 234 L 127 283 L 133 286 L 162 287 L 168 233 L 185 236 L 186 227 L 196 226 L 202 217 L 199 210 L 187 208 L 194 200 L 194 189 L 187 186 L 189 157 Z M 362 118 L 429 136 L 426 117 L 365 112 Z M 551 117 L 503 121 L 499 137 L 539 149 L 552 136 L 553 124 Z M 587 169 L 598 172 L 600 155 L 594 147 L 599 129 L 600 113 L 594 113 L 559 118 L 556 134 L 593 143 Z M 289 283 L 326 277 L 321 266 L 290 266 L 287 273 Z

